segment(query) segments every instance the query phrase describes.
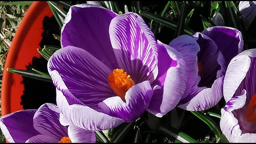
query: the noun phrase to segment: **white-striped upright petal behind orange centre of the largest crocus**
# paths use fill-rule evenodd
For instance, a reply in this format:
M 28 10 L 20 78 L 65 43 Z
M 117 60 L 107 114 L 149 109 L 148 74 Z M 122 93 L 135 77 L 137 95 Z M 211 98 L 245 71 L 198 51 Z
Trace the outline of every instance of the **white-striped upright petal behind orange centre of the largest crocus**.
M 153 33 L 136 13 L 115 17 L 109 27 L 110 40 L 119 68 L 135 84 L 157 76 L 157 48 Z

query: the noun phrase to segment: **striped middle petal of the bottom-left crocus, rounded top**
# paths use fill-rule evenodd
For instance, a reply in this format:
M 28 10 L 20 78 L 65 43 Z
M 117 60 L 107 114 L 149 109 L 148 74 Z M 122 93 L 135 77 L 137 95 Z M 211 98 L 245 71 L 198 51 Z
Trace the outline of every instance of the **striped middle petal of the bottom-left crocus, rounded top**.
M 34 128 L 43 135 L 60 140 L 68 136 L 68 128 L 59 122 L 60 109 L 55 104 L 43 104 L 34 115 Z

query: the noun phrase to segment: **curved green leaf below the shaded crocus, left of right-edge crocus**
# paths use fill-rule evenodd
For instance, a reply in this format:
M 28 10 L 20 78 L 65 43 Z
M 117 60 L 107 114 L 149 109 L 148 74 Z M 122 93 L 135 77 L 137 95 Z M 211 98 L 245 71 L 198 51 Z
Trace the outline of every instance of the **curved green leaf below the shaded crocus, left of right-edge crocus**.
M 216 140 L 219 141 L 219 137 L 221 135 L 221 130 L 219 129 L 219 126 L 209 116 L 204 115 L 202 112 L 190 112 L 193 113 L 193 115 L 197 116 L 197 118 L 203 120 L 203 122 L 205 122 L 215 134 Z

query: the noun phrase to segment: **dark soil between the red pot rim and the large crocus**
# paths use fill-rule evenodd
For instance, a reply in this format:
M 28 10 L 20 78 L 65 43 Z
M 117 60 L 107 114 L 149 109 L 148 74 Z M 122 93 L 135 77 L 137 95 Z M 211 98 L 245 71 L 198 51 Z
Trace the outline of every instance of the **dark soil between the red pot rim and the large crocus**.
M 40 47 L 44 45 L 60 46 L 60 41 L 55 40 L 53 34 L 60 35 L 60 28 L 56 19 L 53 17 L 45 17 L 43 20 L 42 40 Z M 26 69 L 32 68 L 48 73 L 47 60 L 43 57 L 33 57 L 32 63 L 26 66 Z M 56 104 L 56 89 L 51 82 L 40 81 L 37 79 L 23 77 L 22 84 L 24 84 L 23 95 L 21 96 L 21 105 L 24 109 L 38 109 L 44 103 Z

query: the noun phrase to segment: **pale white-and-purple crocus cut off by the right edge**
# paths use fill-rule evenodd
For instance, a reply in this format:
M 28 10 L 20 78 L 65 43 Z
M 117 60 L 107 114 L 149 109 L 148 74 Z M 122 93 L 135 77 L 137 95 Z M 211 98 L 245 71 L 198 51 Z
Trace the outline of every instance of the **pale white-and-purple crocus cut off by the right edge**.
M 221 110 L 221 130 L 230 143 L 256 143 L 256 49 L 235 56 L 228 65 Z

